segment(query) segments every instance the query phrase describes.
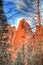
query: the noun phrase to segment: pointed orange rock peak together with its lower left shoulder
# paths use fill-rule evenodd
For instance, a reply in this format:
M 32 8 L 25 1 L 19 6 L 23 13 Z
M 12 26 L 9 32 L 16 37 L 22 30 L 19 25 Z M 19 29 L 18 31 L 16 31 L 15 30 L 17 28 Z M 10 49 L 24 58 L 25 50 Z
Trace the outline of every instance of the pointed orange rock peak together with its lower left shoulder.
M 16 57 L 16 53 L 20 50 L 22 45 L 27 45 L 28 41 L 33 40 L 33 32 L 30 25 L 25 21 L 25 19 L 20 20 L 19 26 L 16 30 L 14 27 L 8 27 L 9 29 L 9 43 L 12 45 L 9 51 L 12 51 L 13 59 Z

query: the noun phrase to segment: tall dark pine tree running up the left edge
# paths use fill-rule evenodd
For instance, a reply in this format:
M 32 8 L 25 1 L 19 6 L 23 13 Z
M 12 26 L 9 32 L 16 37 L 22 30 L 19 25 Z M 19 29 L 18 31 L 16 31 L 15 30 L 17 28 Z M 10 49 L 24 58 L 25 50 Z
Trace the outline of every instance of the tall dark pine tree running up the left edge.
M 2 0 L 0 0 L 0 65 L 11 65 L 11 55 L 7 50 L 10 47 L 7 26 Z

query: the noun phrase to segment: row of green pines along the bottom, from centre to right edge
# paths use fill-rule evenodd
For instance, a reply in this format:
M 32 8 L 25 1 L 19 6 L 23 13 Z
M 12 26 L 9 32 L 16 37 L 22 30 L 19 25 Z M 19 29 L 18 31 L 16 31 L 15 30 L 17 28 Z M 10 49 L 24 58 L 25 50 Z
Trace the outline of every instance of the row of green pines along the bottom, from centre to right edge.
M 38 45 L 34 48 L 35 54 L 32 54 L 33 46 L 30 42 L 27 44 L 27 48 L 25 49 L 24 45 L 20 52 L 17 53 L 17 58 L 15 60 L 14 65 L 43 65 L 43 53 L 41 53 L 42 42 L 39 41 Z M 25 50 L 27 53 L 25 53 Z M 25 62 L 26 60 L 26 62 Z

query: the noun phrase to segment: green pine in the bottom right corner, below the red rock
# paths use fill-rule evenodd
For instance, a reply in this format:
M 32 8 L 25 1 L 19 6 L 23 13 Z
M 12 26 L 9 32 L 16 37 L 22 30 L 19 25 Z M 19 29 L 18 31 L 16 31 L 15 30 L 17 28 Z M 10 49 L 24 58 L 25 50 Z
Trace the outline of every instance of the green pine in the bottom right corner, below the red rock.
M 37 43 L 37 46 L 34 48 L 35 50 L 35 55 L 33 55 L 33 64 L 34 65 L 43 65 L 43 53 L 42 53 L 42 40 L 39 40 Z

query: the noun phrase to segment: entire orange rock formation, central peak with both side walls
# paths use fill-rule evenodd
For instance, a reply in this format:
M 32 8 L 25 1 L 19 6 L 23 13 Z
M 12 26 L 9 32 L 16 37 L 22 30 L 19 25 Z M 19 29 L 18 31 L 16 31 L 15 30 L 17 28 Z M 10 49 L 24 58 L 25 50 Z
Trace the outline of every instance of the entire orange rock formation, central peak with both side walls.
M 27 45 L 31 44 L 32 54 L 35 54 L 35 49 L 38 47 L 38 43 L 42 41 L 41 49 L 43 50 L 43 26 L 36 26 L 36 31 L 32 32 L 30 25 L 25 19 L 20 20 L 18 28 L 8 26 L 9 29 L 9 43 L 12 45 L 9 51 L 12 52 L 12 59 L 16 58 L 16 54 L 20 51 L 22 45 L 25 45 L 25 51 Z

